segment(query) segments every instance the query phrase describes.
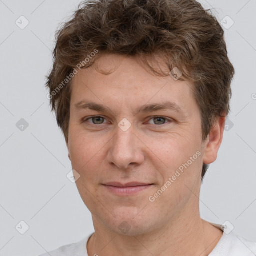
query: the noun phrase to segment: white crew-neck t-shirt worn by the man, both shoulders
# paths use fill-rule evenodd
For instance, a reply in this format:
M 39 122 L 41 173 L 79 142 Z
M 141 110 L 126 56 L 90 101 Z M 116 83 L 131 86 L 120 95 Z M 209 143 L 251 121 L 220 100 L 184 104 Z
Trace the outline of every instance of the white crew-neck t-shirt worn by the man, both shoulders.
M 229 233 L 226 226 L 211 223 L 214 226 L 222 229 L 223 235 L 215 248 L 211 251 L 208 256 L 255 256 L 256 255 L 256 242 L 248 241 L 241 238 L 233 232 Z M 93 234 L 93 233 L 92 233 Z M 59 247 L 56 250 L 50 251 L 51 256 L 88 256 L 87 252 L 87 241 L 90 236 L 87 235 L 85 238 L 77 243 L 71 243 Z M 48 253 L 41 254 L 39 256 L 48 256 Z

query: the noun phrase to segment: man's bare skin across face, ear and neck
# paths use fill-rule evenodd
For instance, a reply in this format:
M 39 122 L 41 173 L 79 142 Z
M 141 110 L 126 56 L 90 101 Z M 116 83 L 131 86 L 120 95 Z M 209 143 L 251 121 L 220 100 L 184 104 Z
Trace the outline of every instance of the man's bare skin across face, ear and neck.
M 81 69 L 73 78 L 66 138 L 72 168 L 80 175 L 76 185 L 95 229 L 87 243 L 88 254 L 208 255 L 223 232 L 200 217 L 201 170 L 203 162 L 217 157 L 225 118 L 218 118 L 202 141 L 191 82 L 156 76 L 134 57 L 103 55 L 96 63 L 97 68 Z M 165 68 L 163 63 L 160 66 Z M 82 100 L 110 110 L 75 107 Z M 174 102 L 181 111 L 133 115 L 137 107 L 165 101 Z M 93 116 L 103 118 L 85 120 Z M 118 126 L 123 118 L 131 124 L 126 131 Z M 149 201 L 196 152 L 200 156 L 155 201 Z M 102 185 L 111 181 L 153 185 L 118 196 Z M 128 232 L 119 228 L 122 225 Z

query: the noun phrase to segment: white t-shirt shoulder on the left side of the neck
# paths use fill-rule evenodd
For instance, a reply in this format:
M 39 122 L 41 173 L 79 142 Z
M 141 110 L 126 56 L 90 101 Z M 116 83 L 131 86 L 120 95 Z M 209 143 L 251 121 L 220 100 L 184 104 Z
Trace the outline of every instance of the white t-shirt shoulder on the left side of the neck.
M 67 245 L 63 245 L 55 250 L 46 252 L 39 256 L 87 256 L 87 241 L 92 234 L 86 236 L 82 240 L 77 243 L 70 243 Z

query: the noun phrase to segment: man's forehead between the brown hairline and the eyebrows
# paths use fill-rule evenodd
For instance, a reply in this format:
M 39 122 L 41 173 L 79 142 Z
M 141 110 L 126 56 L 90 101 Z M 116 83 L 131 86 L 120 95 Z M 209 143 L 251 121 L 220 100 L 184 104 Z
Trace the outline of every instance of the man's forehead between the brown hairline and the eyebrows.
M 157 65 L 167 70 L 164 63 L 157 61 Z M 155 75 L 137 58 L 114 54 L 103 55 L 91 67 L 79 70 L 71 86 L 71 105 L 76 106 L 93 99 L 110 105 L 130 105 L 135 111 L 134 104 L 170 101 L 184 108 L 193 100 L 191 82 Z

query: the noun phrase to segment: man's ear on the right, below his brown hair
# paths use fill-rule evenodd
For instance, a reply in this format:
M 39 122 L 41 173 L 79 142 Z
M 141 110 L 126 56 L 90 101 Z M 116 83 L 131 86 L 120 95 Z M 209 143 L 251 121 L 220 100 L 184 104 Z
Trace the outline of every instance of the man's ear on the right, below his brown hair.
M 225 127 L 225 116 L 218 117 L 205 140 L 203 163 L 209 164 L 216 160 L 222 142 Z

